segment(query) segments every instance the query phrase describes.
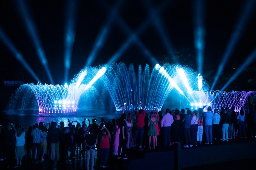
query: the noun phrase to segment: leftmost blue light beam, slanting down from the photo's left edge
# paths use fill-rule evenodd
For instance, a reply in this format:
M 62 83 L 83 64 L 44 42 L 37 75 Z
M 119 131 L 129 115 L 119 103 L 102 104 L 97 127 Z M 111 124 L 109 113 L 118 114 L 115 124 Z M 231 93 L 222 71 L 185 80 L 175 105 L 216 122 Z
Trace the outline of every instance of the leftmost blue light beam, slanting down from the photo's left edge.
M 2 40 L 3 44 L 11 51 L 11 53 L 15 56 L 15 58 L 26 68 L 32 77 L 37 80 L 37 82 L 41 82 L 29 64 L 26 62 L 22 54 L 16 49 L 16 47 L 12 44 L 11 40 L 6 36 L 5 32 L 0 27 L 0 39 Z

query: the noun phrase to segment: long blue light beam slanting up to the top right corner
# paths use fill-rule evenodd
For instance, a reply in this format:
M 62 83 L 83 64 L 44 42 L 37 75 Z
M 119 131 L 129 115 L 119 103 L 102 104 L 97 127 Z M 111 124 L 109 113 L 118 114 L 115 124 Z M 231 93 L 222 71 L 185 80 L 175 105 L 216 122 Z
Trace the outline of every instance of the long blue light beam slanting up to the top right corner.
M 249 23 L 248 21 L 253 16 L 251 14 L 255 12 L 255 9 L 254 9 L 255 6 L 256 6 L 255 0 L 247 0 L 247 2 L 245 3 L 242 9 L 242 15 L 238 19 L 238 23 L 235 25 L 235 30 L 233 31 L 231 38 L 229 40 L 229 43 L 227 44 L 226 51 L 219 64 L 218 71 L 215 75 L 215 78 L 210 90 L 213 90 L 213 88 L 215 87 L 215 84 L 219 80 L 221 72 L 224 70 L 225 66 L 227 65 L 227 62 L 229 61 L 231 55 L 234 52 L 234 49 L 238 45 L 238 41 L 242 37 L 242 34 L 244 33 L 245 28 Z

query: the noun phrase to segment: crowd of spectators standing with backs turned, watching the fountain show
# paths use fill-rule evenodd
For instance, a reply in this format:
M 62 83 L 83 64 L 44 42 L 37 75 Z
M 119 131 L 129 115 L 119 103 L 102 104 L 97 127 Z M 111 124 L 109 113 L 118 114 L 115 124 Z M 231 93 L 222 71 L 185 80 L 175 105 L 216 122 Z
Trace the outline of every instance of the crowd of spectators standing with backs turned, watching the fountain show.
M 125 107 L 124 104 L 119 119 L 105 122 L 102 118 L 98 124 L 96 119 L 84 119 L 82 123 L 68 119 L 67 126 L 64 122 L 39 122 L 26 132 L 20 124 L 8 123 L 6 129 L 1 126 L 0 161 L 5 159 L 7 167 L 18 167 L 24 159 L 36 164 L 44 159 L 66 161 L 81 154 L 86 157 L 86 168 L 93 170 L 96 149 L 100 167 L 106 168 L 109 155 L 125 160 L 128 149 L 166 149 L 175 142 L 189 148 L 203 143 L 225 143 L 233 138 L 256 138 L 254 109 L 241 107 L 236 113 L 235 107 L 214 111 L 210 106 L 194 111 L 167 108 L 162 115 L 155 107 L 148 115 L 142 102 L 134 113 L 126 114 Z

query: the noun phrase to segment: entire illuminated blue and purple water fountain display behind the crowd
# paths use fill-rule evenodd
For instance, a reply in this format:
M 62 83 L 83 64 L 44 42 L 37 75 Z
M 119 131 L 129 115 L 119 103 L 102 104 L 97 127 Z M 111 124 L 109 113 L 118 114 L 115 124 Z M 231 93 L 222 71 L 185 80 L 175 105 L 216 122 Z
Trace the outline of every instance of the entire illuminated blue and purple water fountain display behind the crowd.
M 102 86 L 96 87 L 97 84 Z M 98 99 L 107 91 L 117 111 L 122 110 L 124 102 L 127 104 L 127 110 L 134 110 L 140 100 L 146 110 L 154 110 L 154 106 L 161 110 L 167 103 L 170 108 L 190 107 L 194 110 L 203 105 L 218 109 L 235 106 L 235 111 L 239 111 L 239 107 L 248 105 L 248 98 L 255 96 L 255 92 L 208 90 L 202 76 L 186 66 L 166 63 L 163 66 L 157 64 L 152 68 L 146 65 L 144 69 L 139 66 L 135 71 L 133 64 L 127 67 L 121 62 L 106 65 L 102 69 L 84 68 L 75 75 L 69 85 L 23 84 L 15 92 L 11 103 L 15 105 L 17 96 L 22 95 L 21 109 L 24 109 L 28 102 L 35 105 L 35 102 L 26 99 L 30 98 L 36 101 L 41 113 L 74 113 L 78 110 L 82 94 L 86 93 L 87 99 Z M 108 105 L 111 103 L 109 99 L 106 102 Z

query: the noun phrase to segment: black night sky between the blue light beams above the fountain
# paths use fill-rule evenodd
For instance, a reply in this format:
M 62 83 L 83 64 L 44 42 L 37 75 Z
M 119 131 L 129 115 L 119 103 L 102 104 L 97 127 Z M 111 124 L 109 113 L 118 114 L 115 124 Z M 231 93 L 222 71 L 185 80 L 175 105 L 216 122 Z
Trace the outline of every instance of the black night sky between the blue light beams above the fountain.
M 64 82 L 64 33 L 67 23 L 66 0 L 27 0 L 27 12 L 35 23 L 38 41 L 41 42 L 46 54 L 50 72 L 55 84 Z M 76 1 L 77 8 L 73 9 L 76 14 L 75 41 L 73 44 L 72 60 L 69 71 L 69 81 L 73 75 L 82 69 L 94 47 L 97 36 L 109 15 L 117 4 L 117 0 L 82 0 Z M 120 26 L 117 18 L 122 18 L 126 28 L 135 32 L 148 21 L 154 10 L 159 8 L 164 0 L 151 0 L 151 11 L 146 8 L 148 0 L 123 0 L 120 4 L 113 22 L 109 25 L 105 43 L 95 56 L 91 66 L 105 64 L 115 54 L 121 45 L 129 38 L 127 30 Z M 207 72 L 209 65 L 216 70 L 224 55 L 227 44 L 235 30 L 238 18 L 242 15 L 245 0 L 209 0 L 203 6 L 205 14 L 206 39 L 204 52 L 203 72 Z M 172 50 L 189 49 L 195 55 L 194 50 L 194 15 L 193 6 L 195 0 L 169 0 L 157 13 L 159 20 L 151 19 L 143 30 L 137 35 L 147 50 L 155 57 L 170 53 L 165 47 L 159 30 L 154 27 L 157 22 L 164 30 L 165 38 L 172 43 Z M 73 3 L 73 6 L 74 3 Z M 112 10 L 111 10 L 112 9 Z M 27 63 L 40 78 L 42 83 L 50 84 L 44 67 L 37 57 L 35 46 L 29 37 L 24 16 L 19 12 L 19 5 L 15 0 L 2 0 L 0 2 L 0 28 L 11 40 L 12 44 L 23 55 Z M 256 11 L 255 7 L 254 10 Z M 256 14 L 251 13 L 246 19 L 245 25 L 241 26 L 241 37 L 233 49 L 229 65 L 238 65 L 253 51 L 256 46 Z M 213 60 L 214 59 L 214 60 Z M 150 59 L 145 56 L 136 43 L 132 43 L 116 62 L 134 63 L 145 66 Z M 255 62 L 252 63 L 255 65 Z M 197 68 L 193 68 L 197 71 Z M 225 70 L 224 70 L 225 71 Z M 3 80 L 23 80 L 27 83 L 34 82 L 34 78 L 27 74 L 24 66 L 15 59 L 15 56 L 0 41 L 0 74 Z

